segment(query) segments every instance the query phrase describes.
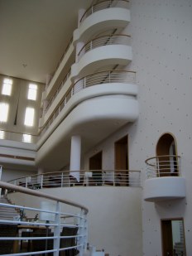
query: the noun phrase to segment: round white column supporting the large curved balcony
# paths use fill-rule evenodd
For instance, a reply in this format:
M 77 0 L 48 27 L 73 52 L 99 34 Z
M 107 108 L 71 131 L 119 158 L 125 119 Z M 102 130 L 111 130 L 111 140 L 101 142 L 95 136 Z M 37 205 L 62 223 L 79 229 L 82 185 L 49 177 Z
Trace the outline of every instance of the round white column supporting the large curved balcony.
M 70 146 L 70 176 L 74 176 L 77 179 L 77 181 L 79 181 L 80 157 L 81 138 L 79 135 L 74 135 L 71 137 Z

